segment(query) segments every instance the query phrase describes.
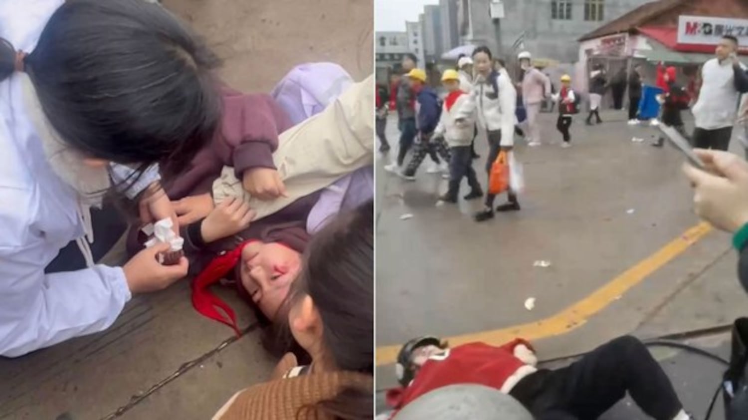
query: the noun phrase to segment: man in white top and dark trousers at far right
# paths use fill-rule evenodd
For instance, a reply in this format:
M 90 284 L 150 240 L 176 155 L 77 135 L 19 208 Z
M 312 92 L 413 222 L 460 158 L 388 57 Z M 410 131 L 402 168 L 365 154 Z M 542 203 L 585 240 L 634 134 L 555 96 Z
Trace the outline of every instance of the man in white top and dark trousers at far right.
M 702 88 L 693 106 L 694 147 L 727 150 L 730 145 L 740 95 L 748 92 L 746 67 L 737 53 L 738 39 L 726 35 L 717 46 L 717 57 L 702 67 Z

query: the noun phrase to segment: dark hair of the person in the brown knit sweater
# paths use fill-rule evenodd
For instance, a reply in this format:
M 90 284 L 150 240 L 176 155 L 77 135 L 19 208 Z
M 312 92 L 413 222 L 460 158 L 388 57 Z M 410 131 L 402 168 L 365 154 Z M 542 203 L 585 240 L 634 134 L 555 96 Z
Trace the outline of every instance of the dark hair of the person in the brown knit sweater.
M 342 214 L 307 247 L 291 302 L 310 296 L 324 325 L 326 357 L 340 371 L 374 374 L 374 204 Z M 373 418 L 373 387 L 349 386 L 330 400 L 304 407 L 341 420 Z

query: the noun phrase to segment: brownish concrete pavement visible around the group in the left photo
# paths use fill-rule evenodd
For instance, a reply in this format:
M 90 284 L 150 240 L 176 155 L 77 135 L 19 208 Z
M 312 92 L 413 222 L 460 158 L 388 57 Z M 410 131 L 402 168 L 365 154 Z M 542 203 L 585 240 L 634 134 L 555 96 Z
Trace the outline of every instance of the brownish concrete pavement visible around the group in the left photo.
M 221 76 L 267 92 L 295 64 L 334 61 L 361 80 L 373 69 L 371 1 L 165 0 L 224 58 Z M 247 332 L 191 307 L 188 281 L 137 296 L 107 332 L 0 359 L 0 419 L 209 419 L 275 366 L 245 304 L 223 293 Z

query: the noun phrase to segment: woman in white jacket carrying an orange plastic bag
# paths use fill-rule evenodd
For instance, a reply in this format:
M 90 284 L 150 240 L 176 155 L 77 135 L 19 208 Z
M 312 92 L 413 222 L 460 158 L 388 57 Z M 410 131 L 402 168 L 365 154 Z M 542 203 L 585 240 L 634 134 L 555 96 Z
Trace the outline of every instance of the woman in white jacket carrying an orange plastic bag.
M 470 92 L 468 106 L 463 107 L 462 115 L 456 119 L 464 121 L 471 112 L 477 112 L 480 126 L 488 133 L 489 151 L 485 170 L 490 174 L 491 165 L 500 150 L 510 151 L 514 147 L 517 91 L 508 77 L 493 70 L 493 57 L 488 47 L 479 46 L 473 50 L 473 63 L 476 70 L 475 85 Z M 475 214 L 476 222 L 493 219 L 495 198 L 490 193 L 485 195 L 485 208 Z M 498 206 L 496 211 L 520 210 L 515 192 L 509 190 L 508 198 L 509 201 Z

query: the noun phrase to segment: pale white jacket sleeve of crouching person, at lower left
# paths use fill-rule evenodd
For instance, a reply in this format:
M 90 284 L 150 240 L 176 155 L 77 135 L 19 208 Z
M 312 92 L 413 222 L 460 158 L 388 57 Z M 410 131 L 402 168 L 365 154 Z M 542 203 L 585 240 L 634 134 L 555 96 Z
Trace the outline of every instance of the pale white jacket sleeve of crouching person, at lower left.
M 17 198 L 19 205 L 30 201 Z M 0 356 L 22 356 L 114 323 L 131 297 L 121 268 L 45 274 L 49 243 L 30 221 L 0 211 L 0 229 L 9 222 L 24 226 L 26 234 L 0 244 Z M 22 230 L 8 231 L 18 235 Z

